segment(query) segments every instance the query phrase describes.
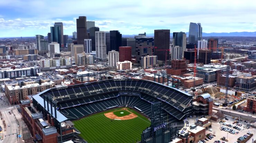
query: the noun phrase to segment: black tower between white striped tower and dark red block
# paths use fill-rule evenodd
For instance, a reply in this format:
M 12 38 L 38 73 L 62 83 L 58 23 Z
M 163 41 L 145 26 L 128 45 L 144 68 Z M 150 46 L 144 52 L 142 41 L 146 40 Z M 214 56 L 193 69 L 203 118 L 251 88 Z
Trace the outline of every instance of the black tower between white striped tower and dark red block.
M 122 46 L 122 34 L 117 30 L 110 31 L 110 49 L 107 49 L 107 52 L 111 50 L 119 51 L 120 46 Z

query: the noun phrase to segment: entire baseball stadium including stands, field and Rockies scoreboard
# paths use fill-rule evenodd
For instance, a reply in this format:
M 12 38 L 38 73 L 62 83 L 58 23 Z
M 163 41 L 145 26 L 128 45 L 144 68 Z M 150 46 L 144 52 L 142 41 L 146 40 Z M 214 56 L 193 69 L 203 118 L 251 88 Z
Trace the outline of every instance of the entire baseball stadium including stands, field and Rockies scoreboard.
M 58 142 L 164 143 L 192 113 L 192 95 L 154 81 L 110 79 L 47 89 L 33 96 L 33 108 L 56 128 Z

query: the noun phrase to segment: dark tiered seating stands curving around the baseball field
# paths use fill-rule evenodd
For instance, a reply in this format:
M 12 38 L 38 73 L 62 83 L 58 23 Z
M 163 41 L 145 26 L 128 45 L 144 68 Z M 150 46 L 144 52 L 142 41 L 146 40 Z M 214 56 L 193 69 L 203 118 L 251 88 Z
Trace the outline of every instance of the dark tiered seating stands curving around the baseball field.
M 151 117 L 151 104 L 159 101 L 165 122 L 174 123 L 177 129 L 181 129 L 183 119 L 192 113 L 192 95 L 153 81 L 102 80 L 47 89 L 33 97 L 34 106 L 44 115 L 56 118 L 57 122 L 63 122 L 60 120 L 62 115 L 66 120 L 77 120 L 115 107 L 130 107 Z M 48 106 L 52 107 L 51 110 Z M 59 120 L 56 113 L 61 114 Z M 57 124 L 55 122 L 58 129 Z

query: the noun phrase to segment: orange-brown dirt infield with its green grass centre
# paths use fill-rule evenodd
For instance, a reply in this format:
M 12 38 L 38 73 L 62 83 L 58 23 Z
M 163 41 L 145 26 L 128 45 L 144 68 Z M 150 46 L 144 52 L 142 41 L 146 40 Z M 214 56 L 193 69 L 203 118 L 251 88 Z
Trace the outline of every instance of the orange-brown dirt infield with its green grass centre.
M 121 110 L 104 113 L 104 115 L 105 117 L 113 120 L 129 120 L 138 117 L 136 114 L 127 110 L 127 108 L 122 108 Z

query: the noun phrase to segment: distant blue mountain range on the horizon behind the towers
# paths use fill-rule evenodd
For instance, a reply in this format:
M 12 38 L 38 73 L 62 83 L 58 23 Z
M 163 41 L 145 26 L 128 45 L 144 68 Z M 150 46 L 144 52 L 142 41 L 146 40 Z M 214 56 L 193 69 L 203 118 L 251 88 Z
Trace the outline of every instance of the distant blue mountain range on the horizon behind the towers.
M 187 36 L 189 36 L 189 32 L 186 32 Z M 210 37 L 210 36 L 248 36 L 248 37 L 256 37 L 256 32 L 230 32 L 230 33 L 226 33 L 226 32 L 222 32 L 222 33 L 202 33 L 204 37 Z M 124 35 L 122 34 L 122 37 L 134 37 L 134 35 L 138 35 L 138 34 L 133 34 L 133 35 Z M 172 33 L 170 34 L 172 37 Z M 148 37 L 153 37 L 154 33 L 147 33 Z

